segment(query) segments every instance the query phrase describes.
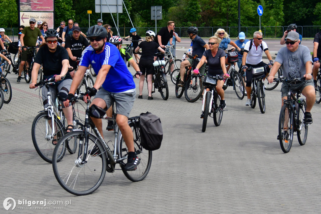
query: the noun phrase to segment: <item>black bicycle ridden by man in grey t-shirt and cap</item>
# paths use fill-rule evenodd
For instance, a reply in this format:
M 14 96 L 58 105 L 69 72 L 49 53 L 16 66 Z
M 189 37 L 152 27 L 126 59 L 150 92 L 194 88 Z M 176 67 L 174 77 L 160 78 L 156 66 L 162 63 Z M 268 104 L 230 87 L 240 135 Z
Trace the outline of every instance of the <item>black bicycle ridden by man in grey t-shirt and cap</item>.
M 294 83 L 301 83 L 304 80 L 305 78 L 274 78 L 274 81 L 282 82 L 288 86 Z M 278 139 L 284 153 L 290 151 L 295 131 L 297 132 L 298 141 L 301 146 L 307 141 L 309 124 L 304 122 L 304 113 L 307 108 L 307 103 L 305 99 L 299 99 L 300 94 L 300 91 L 295 95 L 290 90 L 287 99 L 283 101 L 284 104 L 281 108 Z

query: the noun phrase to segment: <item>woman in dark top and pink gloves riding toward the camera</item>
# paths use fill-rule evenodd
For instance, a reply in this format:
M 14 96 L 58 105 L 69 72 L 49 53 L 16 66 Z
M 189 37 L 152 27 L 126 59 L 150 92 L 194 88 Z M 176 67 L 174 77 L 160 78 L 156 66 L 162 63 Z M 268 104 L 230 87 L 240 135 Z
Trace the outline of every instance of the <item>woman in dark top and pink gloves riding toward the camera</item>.
M 208 45 L 210 46 L 210 49 L 204 51 L 203 56 L 200 60 L 200 62 L 197 64 L 196 68 L 194 69 L 194 74 L 199 74 L 198 69 L 202 67 L 205 60 L 207 60 L 208 65 L 208 76 L 216 76 L 220 75 L 223 77 L 229 78 L 230 75 L 227 74 L 226 67 L 225 67 L 225 51 L 223 49 L 219 48 L 221 39 L 217 36 L 212 36 L 209 39 Z M 224 81 L 218 80 L 216 85 L 216 91 L 217 94 L 221 97 L 221 108 L 226 107 L 225 99 L 224 99 L 224 90 L 223 90 Z M 207 88 L 206 91 L 209 91 L 210 89 Z

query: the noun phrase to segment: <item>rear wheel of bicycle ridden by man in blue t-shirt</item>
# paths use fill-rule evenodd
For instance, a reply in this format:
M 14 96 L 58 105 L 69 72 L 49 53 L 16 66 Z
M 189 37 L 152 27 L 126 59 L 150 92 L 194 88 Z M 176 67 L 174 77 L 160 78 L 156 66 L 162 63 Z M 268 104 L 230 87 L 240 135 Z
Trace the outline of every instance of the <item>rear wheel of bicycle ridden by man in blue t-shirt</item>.
M 126 171 L 124 168 L 125 166 L 121 165 L 121 169 L 123 170 L 123 173 L 125 174 L 125 176 L 133 182 L 142 181 L 147 176 L 152 165 L 152 151 L 145 150 L 142 147 L 140 142 L 140 133 L 138 129 L 139 124 L 138 122 L 135 122 L 135 123 L 136 125 L 134 125 L 134 123 L 132 122 L 129 124 L 129 126 L 133 131 L 135 154 L 140 159 L 140 164 L 137 165 L 137 168 L 134 169 L 133 171 Z M 126 147 L 126 144 L 122 135 L 120 136 L 119 146 L 121 149 L 120 157 L 126 157 L 128 154 L 128 149 Z

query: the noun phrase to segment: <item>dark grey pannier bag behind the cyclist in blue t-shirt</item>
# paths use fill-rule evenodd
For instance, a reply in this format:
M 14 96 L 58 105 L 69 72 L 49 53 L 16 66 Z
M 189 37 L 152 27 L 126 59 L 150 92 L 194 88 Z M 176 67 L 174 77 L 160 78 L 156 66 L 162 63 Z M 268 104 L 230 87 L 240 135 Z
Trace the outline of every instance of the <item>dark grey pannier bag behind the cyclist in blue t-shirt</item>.
M 146 150 L 159 149 L 163 139 L 160 118 L 148 111 L 141 113 L 139 126 L 142 147 Z

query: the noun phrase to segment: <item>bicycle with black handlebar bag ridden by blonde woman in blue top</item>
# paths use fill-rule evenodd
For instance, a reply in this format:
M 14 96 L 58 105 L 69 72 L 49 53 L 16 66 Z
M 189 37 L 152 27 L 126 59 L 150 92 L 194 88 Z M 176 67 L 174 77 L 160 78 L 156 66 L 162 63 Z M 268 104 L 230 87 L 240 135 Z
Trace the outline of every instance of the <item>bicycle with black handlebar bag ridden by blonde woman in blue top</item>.
M 225 91 L 228 86 L 233 86 L 233 90 L 235 91 L 236 96 L 240 100 L 242 100 L 244 98 L 245 84 L 240 73 L 235 70 L 234 63 L 236 61 L 231 61 L 232 57 L 230 56 L 230 53 L 233 53 L 233 52 L 238 53 L 242 51 L 238 51 L 235 49 L 230 49 L 227 51 L 228 63 L 231 64 L 230 69 L 227 72 L 227 74 L 230 75 L 230 78 L 225 81 L 223 85 L 223 89 Z M 237 60 L 239 59 L 238 56 L 233 56 L 233 57 L 237 58 Z M 225 65 L 225 66 L 227 67 L 228 65 Z

